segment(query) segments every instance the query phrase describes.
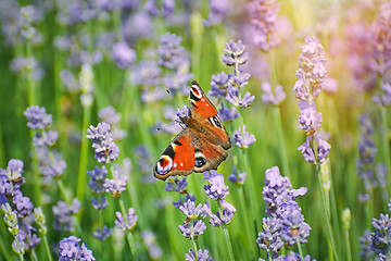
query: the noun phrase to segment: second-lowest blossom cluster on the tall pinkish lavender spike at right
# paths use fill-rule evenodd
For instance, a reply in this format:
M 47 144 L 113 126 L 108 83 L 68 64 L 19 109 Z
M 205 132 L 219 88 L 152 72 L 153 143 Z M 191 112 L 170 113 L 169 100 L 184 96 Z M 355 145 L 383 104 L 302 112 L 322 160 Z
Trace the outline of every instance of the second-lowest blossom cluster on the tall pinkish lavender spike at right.
M 300 128 L 304 129 L 306 135 L 312 136 L 321 124 L 321 113 L 316 112 L 316 105 L 310 104 L 306 101 L 299 101 L 300 115 L 299 123 Z

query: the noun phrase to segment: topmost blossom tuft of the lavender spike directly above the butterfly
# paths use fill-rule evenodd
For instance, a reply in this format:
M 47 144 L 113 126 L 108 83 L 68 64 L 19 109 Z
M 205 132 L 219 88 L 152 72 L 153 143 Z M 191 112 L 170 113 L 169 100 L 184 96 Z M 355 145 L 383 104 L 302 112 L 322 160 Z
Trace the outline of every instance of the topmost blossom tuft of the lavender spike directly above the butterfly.
M 230 40 L 225 44 L 226 49 L 224 49 L 223 62 L 228 66 L 237 66 L 244 64 L 249 59 L 249 53 L 244 52 L 245 46 L 241 40 L 235 42 Z

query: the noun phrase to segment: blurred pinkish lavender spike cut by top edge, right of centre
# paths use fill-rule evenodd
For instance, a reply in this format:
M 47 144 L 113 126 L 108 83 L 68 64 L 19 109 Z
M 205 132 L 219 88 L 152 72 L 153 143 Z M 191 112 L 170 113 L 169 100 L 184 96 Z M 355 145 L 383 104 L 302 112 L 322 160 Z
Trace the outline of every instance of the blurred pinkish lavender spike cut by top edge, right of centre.
M 268 51 L 280 44 L 275 34 L 279 7 L 280 3 L 276 0 L 254 0 L 247 5 L 251 24 L 245 26 L 251 32 L 253 45 L 263 51 Z

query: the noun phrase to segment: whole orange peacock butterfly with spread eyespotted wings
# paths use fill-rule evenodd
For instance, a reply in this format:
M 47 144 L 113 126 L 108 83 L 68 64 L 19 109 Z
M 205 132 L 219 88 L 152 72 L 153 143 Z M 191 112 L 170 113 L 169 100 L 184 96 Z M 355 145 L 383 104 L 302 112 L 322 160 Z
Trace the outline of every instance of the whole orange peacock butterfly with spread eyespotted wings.
M 231 147 L 217 110 L 193 80 L 190 86 L 190 115 L 180 117 L 187 126 L 163 151 L 154 166 L 154 176 L 169 176 L 216 170 Z

